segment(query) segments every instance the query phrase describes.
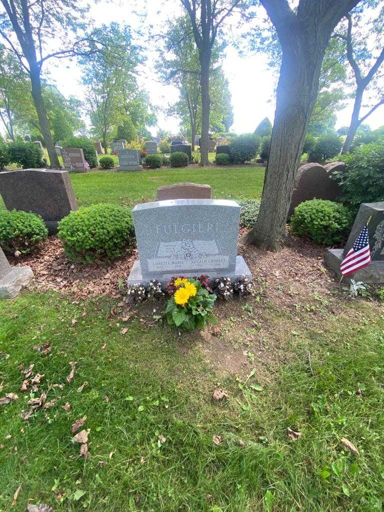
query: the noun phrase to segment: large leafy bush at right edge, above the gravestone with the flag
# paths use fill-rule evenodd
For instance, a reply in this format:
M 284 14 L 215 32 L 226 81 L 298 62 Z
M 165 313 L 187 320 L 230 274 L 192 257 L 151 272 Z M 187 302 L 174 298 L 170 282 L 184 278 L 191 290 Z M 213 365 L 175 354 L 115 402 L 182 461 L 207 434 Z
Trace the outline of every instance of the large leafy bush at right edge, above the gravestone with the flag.
M 343 190 L 343 200 L 355 205 L 384 200 L 384 142 L 356 147 L 342 156 L 345 173 L 333 173 Z

